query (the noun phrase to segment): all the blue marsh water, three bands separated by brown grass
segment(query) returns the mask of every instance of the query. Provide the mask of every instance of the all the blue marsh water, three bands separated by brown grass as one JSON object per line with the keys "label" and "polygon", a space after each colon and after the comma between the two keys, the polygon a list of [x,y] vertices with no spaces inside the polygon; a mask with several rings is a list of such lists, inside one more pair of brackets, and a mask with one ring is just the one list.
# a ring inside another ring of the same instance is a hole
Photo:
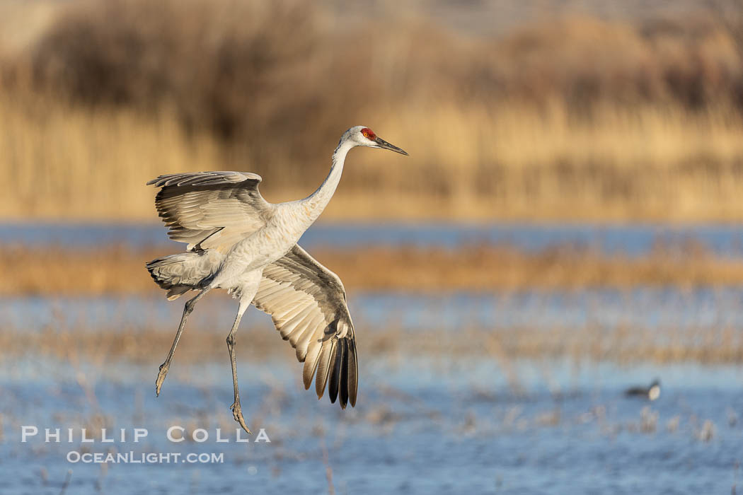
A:
{"label": "all the blue marsh water, three bands separated by brown grass", "polygon": [[[733,226],[319,225],[303,242],[496,242],[535,250],[572,243],[639,255],[658,242],[690,239],[720,255],[743,255],[743,228]],[[72,246],[168,242],[160,226],[0,226],[0,240]],[[702,336],[724,328],[737,335],[743,333],[742,303],[743,287],[737,286],[349,294],[359,335],[392,328],[413,335],[406,340],[413,342],[417,335],[457,335],[463,328],[484,330],[481,335],[520,327],[621,327],[630,335],[701,329],[692,335]],[[5,298],[0,332],[154,325],[175,330],[181,309],[181,301],[149,297]],[[222,339],[234,311],[230,298],[210,295],[189,326],[212,328]],[[241,335],[275,332],[270,318],[253,310],[243,327]],[[623,366],[567,357],[510,358],[504,364],[489,355],[413,351],[363,355],[359,401],[345,411],[303,390],[291,353],[239,361],[246,419],[256,436],[262,428],[270,439],[255,442],[253,436],[240,443],[228,409],[233,397],[226,353],[213,363],[179,362],[156,398],[153,364],[111,361],[97,367],[86,358],[24,358],[0,350],[0,472],[7,474],[0,476],[0,494],[59,494],[68,470],[66,493],[84,495],[328,493],[329,476],[338,494],[708,494],[730,493],[741,483],[739,365]],[[663,385],[657,401],[624,396],[626,387],[655,377]],[[39,434],[20,442],[23,425],[39,427]],[[204,428],[210,437],[170,442],[166,431],[174,425],[186,433]],[[101,426],[109,436],[124,428],[127,441],[100,442]],[[45,427],[60,428],[62,442],[44,442]],[[81,442],[82,427],[98,441]],[[72,442],[66,441],[67,428],[74,429]],[[134,443],[134,428],[149,434]],[[216,428],[230,442],[216,442]],[[68,462],[71,451],[133,452],[139,459],[142,453],[223,457],[203,464],[94,464]]]}

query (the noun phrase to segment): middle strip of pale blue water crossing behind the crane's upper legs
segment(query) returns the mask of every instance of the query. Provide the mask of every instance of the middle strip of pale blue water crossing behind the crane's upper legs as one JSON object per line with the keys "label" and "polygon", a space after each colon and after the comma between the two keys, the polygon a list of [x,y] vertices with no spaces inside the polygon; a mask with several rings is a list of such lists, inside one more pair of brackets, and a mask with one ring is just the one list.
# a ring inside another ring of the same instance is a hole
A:
{"label": "middle strip of pale blue water crossing behind the crane's upper legs", "polygon": [[[0,326],[39,330],[45,327],[104,327],[111,330],[177,324],[184,301],[131,296],[126,298],[0,298]],[[631,327],[639,329],[727,327],[743,332],[743,286],[682,290],[675,287],[580,289],[570,292],[348,294],[359,329],[452,330],[478,328]],[[224,294],[211,294],[190,317],[190,324],[229,330],[237,306]],[[222,327],[214,323],[215,315]],[[250,308],[243,327],[271,327]]]}

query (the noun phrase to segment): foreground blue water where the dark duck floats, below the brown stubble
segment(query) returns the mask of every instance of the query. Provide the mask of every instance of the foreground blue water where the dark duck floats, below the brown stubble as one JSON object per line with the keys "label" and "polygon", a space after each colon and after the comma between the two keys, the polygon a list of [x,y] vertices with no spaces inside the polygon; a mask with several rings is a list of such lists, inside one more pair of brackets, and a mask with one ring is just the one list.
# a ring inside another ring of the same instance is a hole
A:
{"label": "foreground blue water where the dark duck floats, below the brown stubble", "polygon": [[[91,377],[94,402],[63,378],[71,375],[67,364],[2,367],[0,390],[9,400],[0,409],[0,459],[5,472],[16,473],[0,480],[2,493],[58,493],[68,469],[76,494],[244,493],[250,487],[325,493],[328,469],[340,493],[727,493],[743,457],[737,417],[743,373],[736,367],[519,361],[524,390],[517,394],[487,360],[422,358],[400,365],[379,359],[363,370],[357,407],[341,411],[301,390],[288,362],[247,364],[241,368],[244,411],[270,443],[236,442],[223,364],[173,373],[158,399],[153,370],[129,364],[78,370]],[[558,396],[548,391],[537,371],[545,367],[554,380],[571,383],[569,389]],[[664,381],[658,401],[623,396],[625,384],[658,373]],[[80,427],[96,410],[110,428],[126,428],[129,442],[82,444]],[[42,433],[21,443],[24,424]],[[166,431],[173,425],[204,428],[210,439],[170,442]],[[74,428],[74,441],[62,433],[59,444],[45,443],[43,427]],[[149,431],[142,442],[132,442],[134,427]],[[217,427],[230,442],[215,442]],[[209,464],[101,468],[68,462],[71,451],[224,456]]]}

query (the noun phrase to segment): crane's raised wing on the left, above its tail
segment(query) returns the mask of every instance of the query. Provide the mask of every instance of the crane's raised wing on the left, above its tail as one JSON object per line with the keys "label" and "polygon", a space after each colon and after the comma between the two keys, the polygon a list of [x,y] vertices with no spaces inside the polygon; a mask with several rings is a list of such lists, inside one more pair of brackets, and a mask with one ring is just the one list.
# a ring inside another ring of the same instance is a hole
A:
{"label": "crane's raised wing on the left, above its tail", "polygon": [[265,226],[273,214],[258,191],[261,176],[250,172],[198,172],[160,175],[155,197],[168,236],[192,249],[227,252]]}

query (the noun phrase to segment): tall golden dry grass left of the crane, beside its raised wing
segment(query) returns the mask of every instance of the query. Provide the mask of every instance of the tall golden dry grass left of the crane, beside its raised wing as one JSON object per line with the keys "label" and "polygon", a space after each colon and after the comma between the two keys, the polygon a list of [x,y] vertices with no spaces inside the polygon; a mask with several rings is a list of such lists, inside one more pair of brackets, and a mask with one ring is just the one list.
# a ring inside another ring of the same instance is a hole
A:
{"label": "tall golden dry grass left of the crane, beside its raised wing", "polygon": [[[153,217],[147,180],[221,163],[209,138],[186,139],[175,119],[85,111],[0,96],[0,169],[12,185],[0,217]],[[156,216],[156,215],[155,215]]]}

